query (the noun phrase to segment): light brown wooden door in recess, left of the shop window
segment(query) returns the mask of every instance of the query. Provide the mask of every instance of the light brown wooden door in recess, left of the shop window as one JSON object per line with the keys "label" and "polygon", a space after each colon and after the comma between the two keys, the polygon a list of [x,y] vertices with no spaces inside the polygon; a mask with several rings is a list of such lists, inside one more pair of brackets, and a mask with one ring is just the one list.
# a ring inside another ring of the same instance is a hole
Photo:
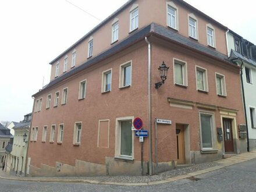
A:
{"label": "light brown wooden door in recess, left of the shop window", "polygon": [[185,163],[184,155],[184,127],[183,125],[176,125],[176,139],[177,139],[177,164]]}

